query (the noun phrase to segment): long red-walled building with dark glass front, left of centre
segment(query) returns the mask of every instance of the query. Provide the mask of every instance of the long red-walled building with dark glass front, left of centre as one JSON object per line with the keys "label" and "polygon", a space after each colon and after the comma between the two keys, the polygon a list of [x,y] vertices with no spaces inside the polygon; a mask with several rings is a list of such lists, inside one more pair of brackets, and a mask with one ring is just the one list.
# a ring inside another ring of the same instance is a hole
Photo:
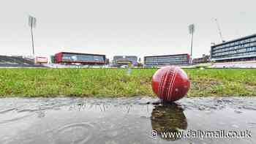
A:
{"label": "long red-walled building with dark glass front, left of centre", "polygon": [[86,65],[104,65],[106,56],[90,53],[69,53],[60,52],[54,56],[56,64],[86,64]]}

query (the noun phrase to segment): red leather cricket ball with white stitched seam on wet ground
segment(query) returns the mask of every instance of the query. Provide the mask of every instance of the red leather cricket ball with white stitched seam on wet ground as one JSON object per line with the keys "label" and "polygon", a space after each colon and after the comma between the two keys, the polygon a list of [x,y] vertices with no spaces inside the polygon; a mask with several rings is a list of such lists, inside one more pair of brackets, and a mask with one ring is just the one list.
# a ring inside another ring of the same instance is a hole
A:
{"label": "red leather cricket ball with white stitched seam on wet ground", "polygon": [[159,99],[167,102],[173,102],[184,97],[189,91],[189,87],[189,77],[179,67],[162,67],[152,77],[154,93]]}

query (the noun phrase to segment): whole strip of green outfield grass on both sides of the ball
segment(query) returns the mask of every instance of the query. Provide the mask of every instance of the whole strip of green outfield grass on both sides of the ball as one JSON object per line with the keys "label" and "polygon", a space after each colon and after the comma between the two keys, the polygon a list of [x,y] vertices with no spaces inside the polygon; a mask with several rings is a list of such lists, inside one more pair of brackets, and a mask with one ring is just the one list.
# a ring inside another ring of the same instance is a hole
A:
{"label": "whole strip of green outfield grass on both sides of the ball", "polygon": [[[155,96],[157,69],[0,69],[0,96]],[[256,96],[256,69],[184,69],[188,96]]]}

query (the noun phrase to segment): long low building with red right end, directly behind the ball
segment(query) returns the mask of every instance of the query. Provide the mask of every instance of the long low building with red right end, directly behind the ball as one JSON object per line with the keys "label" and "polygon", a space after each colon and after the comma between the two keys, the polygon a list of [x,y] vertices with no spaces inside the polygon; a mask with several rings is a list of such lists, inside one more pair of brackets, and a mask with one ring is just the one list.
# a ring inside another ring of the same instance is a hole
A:
{"label": "long low building with red right end, directly behind the ball", "polygon": [[187,53],[164,56],[145,56],[144,67],[161,67],[165,65],[188,65],[190,56]]}

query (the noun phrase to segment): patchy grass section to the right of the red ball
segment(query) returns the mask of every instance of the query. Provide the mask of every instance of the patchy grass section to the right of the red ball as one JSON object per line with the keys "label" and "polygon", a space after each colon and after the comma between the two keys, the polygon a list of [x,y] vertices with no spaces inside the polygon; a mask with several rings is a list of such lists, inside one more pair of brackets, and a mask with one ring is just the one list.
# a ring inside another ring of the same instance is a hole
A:
{"label": "patchy grass section to the right of the red ball", "polygon": [[256,96],[256,69],[185,69],[188,96]]}

